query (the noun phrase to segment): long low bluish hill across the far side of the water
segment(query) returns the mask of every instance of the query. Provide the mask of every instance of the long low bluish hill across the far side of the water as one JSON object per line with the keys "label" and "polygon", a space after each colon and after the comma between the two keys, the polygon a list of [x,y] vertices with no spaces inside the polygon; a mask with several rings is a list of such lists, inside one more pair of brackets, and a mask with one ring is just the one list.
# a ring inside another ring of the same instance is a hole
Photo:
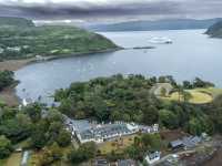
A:
{"label": "long low bluish hill across the far side of the water", "polygon": [[95,24],[87,29],[93,31],[153,31],[153,30],[185,30],[185,29],[208,29],[213,23],[222,19],[208,20],[158,20],[158,21],[130,21],[114,24]]}

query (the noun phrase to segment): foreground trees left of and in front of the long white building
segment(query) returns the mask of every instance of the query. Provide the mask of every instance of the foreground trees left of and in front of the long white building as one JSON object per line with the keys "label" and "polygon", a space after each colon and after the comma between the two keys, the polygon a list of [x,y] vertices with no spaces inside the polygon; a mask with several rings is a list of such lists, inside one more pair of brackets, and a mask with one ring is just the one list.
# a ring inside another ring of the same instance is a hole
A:
{"label": "foreground trees left of and in front of the long white building", "polygon": [[[39,103],[21,110],[0,105],[0,160],[9,157],[21,142],[26,142],[22,143],[23,149],[41,151],[38,166],[60,164],[61,160],[78,165],[100,155],[92,142],[81,144],[78,148],[71,146],[71,133],[65,129],[63,116],[56,108],[46,108]],[[148,151],[162,147],[159,134],[144,134],[137,136],[123,153],[111,152],[107,158],[111,162],[120,158],[142,160]],[[69,148],[65,155],[64,148]]]}

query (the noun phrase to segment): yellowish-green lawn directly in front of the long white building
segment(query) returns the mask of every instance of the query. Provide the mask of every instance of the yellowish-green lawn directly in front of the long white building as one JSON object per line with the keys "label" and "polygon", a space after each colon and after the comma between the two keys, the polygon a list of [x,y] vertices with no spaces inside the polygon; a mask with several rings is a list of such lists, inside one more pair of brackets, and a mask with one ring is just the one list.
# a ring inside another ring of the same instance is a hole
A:
{"label": "yellowish-green lawn directly in front of the long white building", "polygon": [[122,152],[125,147],[130,146],[134,142],[134,137],[137,135],[130,135],[130,136],[123,136],[122,141],[121,138],[115,138],[113,141],[104,142],[99,145],[99,149],[101,151],[102,155],[105,155],[108,153],[114,152]]}

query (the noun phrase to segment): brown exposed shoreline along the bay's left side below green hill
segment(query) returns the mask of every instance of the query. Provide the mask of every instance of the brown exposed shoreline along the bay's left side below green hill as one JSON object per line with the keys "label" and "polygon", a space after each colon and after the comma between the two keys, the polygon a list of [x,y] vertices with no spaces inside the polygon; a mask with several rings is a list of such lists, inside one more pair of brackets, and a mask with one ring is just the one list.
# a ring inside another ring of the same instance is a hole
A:
{"label": "brown exposed shoreline along the bay's left side below green hill", "polygon": [[[115,52],[119,50],[123,50],[123,48],[113,48],[113,49],[105,49],[101,51],[92,51],[92,52],[83,52],[83,53],[72,53],[72,54],[64,54],[64,55],[49,55],[43,56],[44,60],[39,61],[36,58],[30,59],[23,59],[23,60],[8,60],[0,62],[0,71],[9,70],[9,71],[18,71],[26,65],[32,64],[32,63],[41,63],[46,61],[52,61],[58,59],[65,59],[65,58],[72,58],[72,56],[80,56],[80,55],[87,55],[87,54],[94,54],[94,53],[105,53],[105,52]],[[2,101],[9,106],[17,106],[20,103],[20,98],[16,94],[16,86],[11,85],[9,87],[6,87],[0,92],[0,102]]]}

